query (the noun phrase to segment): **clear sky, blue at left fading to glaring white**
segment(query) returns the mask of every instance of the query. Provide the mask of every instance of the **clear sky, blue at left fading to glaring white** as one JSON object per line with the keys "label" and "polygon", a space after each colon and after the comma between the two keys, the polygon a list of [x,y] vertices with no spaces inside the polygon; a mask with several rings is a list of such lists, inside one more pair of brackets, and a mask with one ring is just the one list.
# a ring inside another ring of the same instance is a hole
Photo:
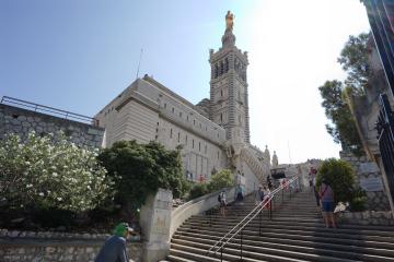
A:
{"label": "clear sky, blue at left fading to glaring white", "polygon": [[279,163],[338,157],[318,86],[344,80],[349,35],[369,32],[359,0],[1,0],[0,96],[94,116],[138,76],[193,104],[209,97],[209,49],[234,13],[248,52],[251,142]]}

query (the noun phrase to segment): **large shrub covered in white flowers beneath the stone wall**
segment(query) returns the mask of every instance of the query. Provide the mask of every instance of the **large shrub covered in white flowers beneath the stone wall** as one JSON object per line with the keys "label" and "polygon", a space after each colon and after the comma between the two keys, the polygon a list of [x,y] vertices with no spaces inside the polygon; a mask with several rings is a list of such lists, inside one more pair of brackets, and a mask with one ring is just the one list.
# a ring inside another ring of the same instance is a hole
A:
{"label": "large shrub covered in white flowers beneath the stone wall", "polygon": [[0,140],[0,196],[12,209],[35,206],[81,212],[111,196],[112,180],[96,162],[99,150],[86,150],[65,135],[22,142],[15,135]]}

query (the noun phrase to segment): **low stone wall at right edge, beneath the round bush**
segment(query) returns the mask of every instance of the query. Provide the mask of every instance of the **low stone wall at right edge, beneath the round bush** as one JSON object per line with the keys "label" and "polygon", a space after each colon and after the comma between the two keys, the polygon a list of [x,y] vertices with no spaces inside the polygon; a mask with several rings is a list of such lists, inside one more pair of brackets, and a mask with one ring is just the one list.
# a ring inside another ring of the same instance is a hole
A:
{"label": "low stone wall at right edge, beneath the round bush", "polygon": [[380,225],[394,226],[394,216],[391,212],[338,212],[336,216],[339,223],[355,224],[355,225]]}

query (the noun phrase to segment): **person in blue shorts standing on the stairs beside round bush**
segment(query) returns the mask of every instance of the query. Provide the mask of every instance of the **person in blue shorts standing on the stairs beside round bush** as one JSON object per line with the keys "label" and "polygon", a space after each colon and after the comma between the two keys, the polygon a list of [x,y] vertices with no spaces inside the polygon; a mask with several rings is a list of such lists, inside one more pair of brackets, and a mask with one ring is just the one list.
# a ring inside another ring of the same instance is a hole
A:
{"label": "person in blue shorts standing on the stairs beside round bush", "polygon": [[327,180],[323,179],[322,187],[318,190],[318,196],[321,199],[322,215],[326,227],[329,227],[329,222],[333,228],[336,228],[334,219],[334,191]]}

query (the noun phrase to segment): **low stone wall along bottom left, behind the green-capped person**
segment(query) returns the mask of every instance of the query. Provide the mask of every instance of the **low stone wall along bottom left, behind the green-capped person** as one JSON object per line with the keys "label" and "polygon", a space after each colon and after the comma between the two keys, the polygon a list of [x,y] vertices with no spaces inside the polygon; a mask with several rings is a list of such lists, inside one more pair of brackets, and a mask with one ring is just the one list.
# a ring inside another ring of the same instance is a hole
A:
{"label": "low stone wall along bottom left, behind the green-capped person", "polygon": [[[0,262],[93,262],[106,234],[34,233],[0,229]],[[128,241],[129,259],[142,261],[142,243]]]}

